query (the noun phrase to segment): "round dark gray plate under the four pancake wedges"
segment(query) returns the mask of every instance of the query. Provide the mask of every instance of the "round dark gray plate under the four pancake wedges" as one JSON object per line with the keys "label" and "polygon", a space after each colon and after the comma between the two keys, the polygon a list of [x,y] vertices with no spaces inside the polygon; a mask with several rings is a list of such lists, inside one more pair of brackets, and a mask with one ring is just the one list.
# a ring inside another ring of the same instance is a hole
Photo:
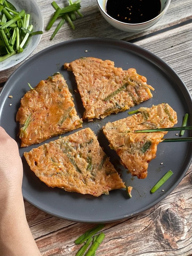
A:
{"label": "round dark gray plate under the four pancake wedges", "polygon": [[[88,50],[85,53],[85,50]],[[23,63],[6,82],[0,94],[0,125],[20,145],[17,137],[18,123],[15,116],[20,106],[20,99],[31,86],[37,85],[41,79],[60,71],[67,80],[73,94],[75,107],[80,117],[83,106],[78,93],[75,78],[72,72],[63,69],[64,62],[70,62],[80,57],[96,57],[103,60],[110,59],[116,67],[128,69],[134,67],[137,72],[147,77],[148,84],[155,88],[153,98],[143,102],[139,107],[150,107],[162,102],[167,102],[178,116],[178,126],[181,126],[185,113],[190,114],[188,125],[191,123],[192,102],[190,94],[178,75],[161,59],[154,54],[131,43],[103,38],[83,38],[51,46],[35,54]],[[13,98],[8,98],[13,95]],[[12,103],[12,106],[9,104]],[[131,108],[137,109],[138,106]],[[148,176],[144,180],[131,177],[119,164],[119,157],[114,150],[109,148],[109,142],[102,133],[101,127],[107,122],[112,122],[127,117],[127,111],[111,114],[105,119],[96,119],[94,122],[84,122],[83,128],[90,127],[98,136],[100,145],[104,148],[115,168],[121,173],[126,185],[133,186],[132,198],[128,199],[125,189],[113,190],[109,196],[102,195],[98,198],[91,195],[68,193],[58,188],[49,188],[30,171],[24,151],[30,151],[39,145],[20,148],[23,161],[23,197],[39,209],[52,215],[74,222],[112,222],[129,218],[152,207],[165,198],[184,177],[191,162],[192,143],[171,142],[158,145],[157,157],[151,161]],[[73,133],[73,132],[72,132]],[[172,138],[176,132],[169,132],[165,137]],[[69,135],[67,133],[65,135]],[[63,135],[63,136],[65,136]],[[190,131],[185,131],[185,137],[191,136]],[[57,139],[54,137],[46,142]],[[41,145],[41,144],[40,144]],[[163,165],[160,163],[163,162]],[[154,194],[150,189],[168,171],[174,175]],[[165,191],[162,192],[162,189]]]}

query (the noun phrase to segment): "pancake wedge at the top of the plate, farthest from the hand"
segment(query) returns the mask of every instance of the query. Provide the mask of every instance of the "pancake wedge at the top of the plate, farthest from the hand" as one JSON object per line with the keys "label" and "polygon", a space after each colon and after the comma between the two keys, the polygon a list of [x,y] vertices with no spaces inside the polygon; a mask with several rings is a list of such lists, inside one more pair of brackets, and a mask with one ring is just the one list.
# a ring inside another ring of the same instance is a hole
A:
{"label": "pancake wedge at the top of the plate, farthest from the hand", "polygon": [[122,70],[114,67],[113,61],[93,57],[76,59],[64,66],[75,75],[85,107],[83,118],[104,118],[152,97],[153,87],[133,68]]}

